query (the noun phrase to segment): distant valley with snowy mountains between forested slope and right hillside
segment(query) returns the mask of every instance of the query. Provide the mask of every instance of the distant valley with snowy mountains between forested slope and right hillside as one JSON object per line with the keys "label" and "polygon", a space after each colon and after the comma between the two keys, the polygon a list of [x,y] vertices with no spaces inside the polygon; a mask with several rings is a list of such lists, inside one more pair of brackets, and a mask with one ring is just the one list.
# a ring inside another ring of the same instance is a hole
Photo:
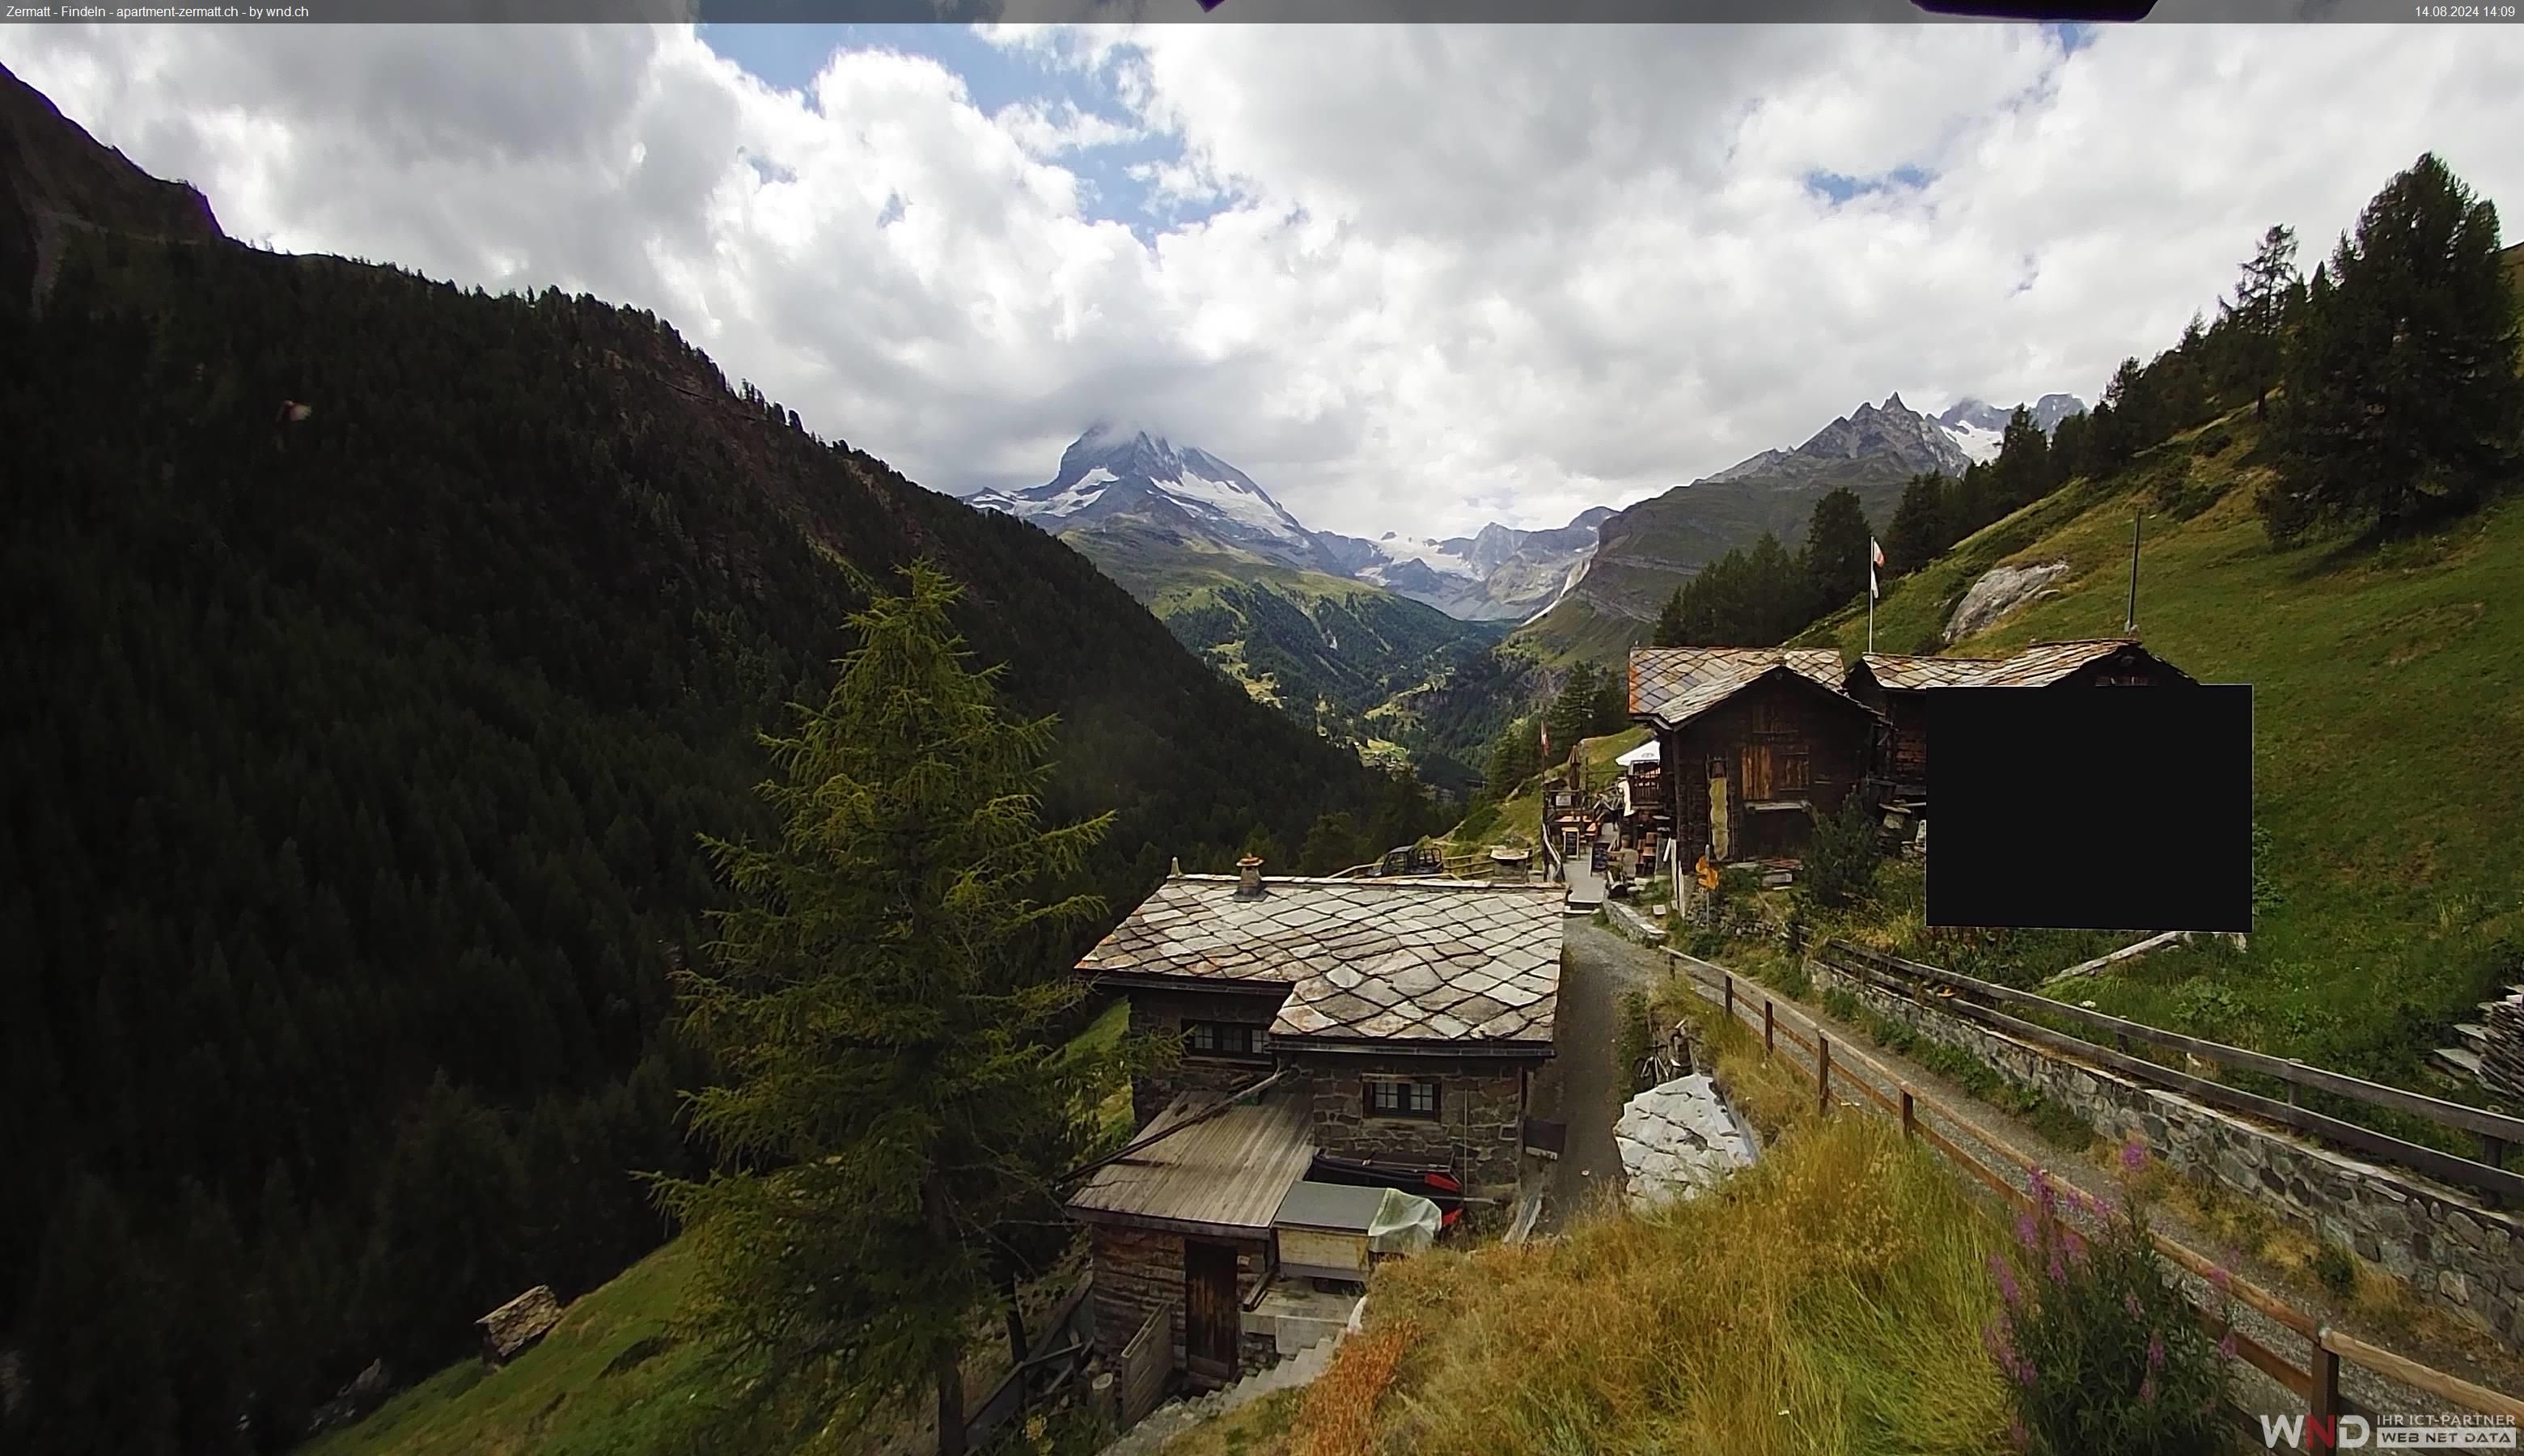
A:
{"label": "distant valley with snowy mountains between forested slope and right hillside", "polygon": [[[2052,432],[2085,404],[2024,409]],[[1843,487],[1880,530],[1911,477],[1994,459],[2009,419],[1979,399],[1928,416],[1893,394],[1628,510],[1446,540],[1312,530],[1217,454],[1116,421],[1080,434],[1053,479],[964,500],[1078,548],[1252,696],[1464,787],[1489,734],[1557,691],[1570,661],[1648,641],[1704,565],[1764,532],[1792,540]]]}

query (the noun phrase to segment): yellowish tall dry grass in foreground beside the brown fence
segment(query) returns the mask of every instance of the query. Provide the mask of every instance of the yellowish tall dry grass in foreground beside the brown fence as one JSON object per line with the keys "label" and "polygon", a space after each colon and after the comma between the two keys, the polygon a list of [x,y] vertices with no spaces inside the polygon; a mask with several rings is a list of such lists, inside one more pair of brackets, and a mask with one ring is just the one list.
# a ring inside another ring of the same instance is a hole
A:
{"label": "yellowish tall dry grass in foreground beside the brown fence", "polygon": [[1376,1451],[1489,1456],[1981,1453],[2009,1403],[1981,1327],[2007,1234],[1880,1120],[1810,1085],[1676,987],[1716,1077],[1769,1138],[1719,1194],[1593,1219],[1557,1244],[1378,1272],[1371,1330],[1416,1340]]}

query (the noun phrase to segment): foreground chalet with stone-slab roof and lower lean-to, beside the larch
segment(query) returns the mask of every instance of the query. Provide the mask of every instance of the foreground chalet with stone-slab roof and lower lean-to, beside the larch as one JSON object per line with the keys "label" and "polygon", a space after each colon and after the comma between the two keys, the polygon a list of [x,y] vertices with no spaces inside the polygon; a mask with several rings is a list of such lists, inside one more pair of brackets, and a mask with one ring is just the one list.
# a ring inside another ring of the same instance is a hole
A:
{"label": "foreground chalet with stone-slab roof and lower lean-to, beside the larch", "polygon": [[1560,997],[1560,886],[1242,868],[1169,876],[1078,964],[1131,999],[1131,1032],[1184,1045],[1133,1085],[1143,1148],[1070,1196],[1093,1229],[1095,1340],[1118,1353],[1174,1307],[1201,1380],[1270,1360],[1242,1312],[1310,1171],[1514,1191]]}

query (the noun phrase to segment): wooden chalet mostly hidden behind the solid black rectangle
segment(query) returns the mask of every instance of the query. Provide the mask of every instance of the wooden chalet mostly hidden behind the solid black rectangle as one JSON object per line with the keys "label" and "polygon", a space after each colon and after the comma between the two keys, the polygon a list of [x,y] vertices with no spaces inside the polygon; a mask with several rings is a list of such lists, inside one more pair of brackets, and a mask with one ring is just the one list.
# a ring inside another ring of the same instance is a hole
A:
{"label": "wooden chalet mostly hidden behind the solid black rectangle", "polygon": [[2012,656],[1865,654],[1843,691],[1883,714],[1868,785],[1878,802],[1928,800],[1928,696],[1941,686],[2171,686],[2191,674],[2138,638],[2037,641]]}

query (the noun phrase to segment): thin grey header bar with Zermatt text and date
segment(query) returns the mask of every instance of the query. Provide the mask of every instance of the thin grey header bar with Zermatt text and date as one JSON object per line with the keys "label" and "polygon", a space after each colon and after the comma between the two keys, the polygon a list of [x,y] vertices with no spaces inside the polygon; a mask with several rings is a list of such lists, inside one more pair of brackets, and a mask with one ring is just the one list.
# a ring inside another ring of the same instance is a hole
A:
{"label": "thin grey header bar with Zermatt text and date", "polygon": [[2516,0],[38,0],[15,23],[2400,23],[2514,25]]}

